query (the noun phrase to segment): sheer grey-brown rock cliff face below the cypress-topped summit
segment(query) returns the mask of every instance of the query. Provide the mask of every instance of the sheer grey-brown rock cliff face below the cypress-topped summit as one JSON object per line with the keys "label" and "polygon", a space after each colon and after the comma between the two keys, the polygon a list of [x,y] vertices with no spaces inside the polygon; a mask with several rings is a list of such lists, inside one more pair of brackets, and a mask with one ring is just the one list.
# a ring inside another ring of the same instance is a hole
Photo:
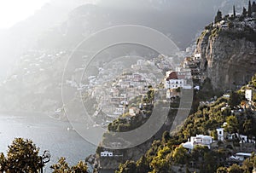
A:
{"label": "sheer grey-brown rock cliff face below the cypress-topped summit", "polygon": [[205,30],[195,53],[201,54],[201,72],[211,79],[213,89],[236,89],[256,72],[255,47],[253,21],[248,26],[219,25]]}

